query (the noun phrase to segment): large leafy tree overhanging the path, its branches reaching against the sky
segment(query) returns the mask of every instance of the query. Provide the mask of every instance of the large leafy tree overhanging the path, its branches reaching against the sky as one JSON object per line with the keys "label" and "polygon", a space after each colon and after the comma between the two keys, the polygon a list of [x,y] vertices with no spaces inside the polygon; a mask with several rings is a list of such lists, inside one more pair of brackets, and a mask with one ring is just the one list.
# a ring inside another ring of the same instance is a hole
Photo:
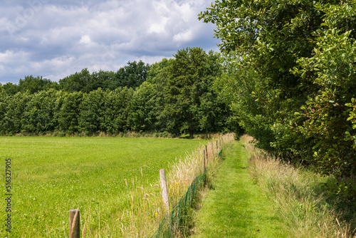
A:
{"label": "large leafy tree overhanging the path, its branches reaching against the sky", "polygon": [[289,69],[298,57],[310,56],[309,37],[321,22],[318,11],[310,1],[216,1],[199,17],[216,24],[227,53],[228,81],[237,82],[224,87],[242,87],[229,94],[235,95],[241,125],[266,150],[290,151],[293,139],[283,132],[306,98]]}

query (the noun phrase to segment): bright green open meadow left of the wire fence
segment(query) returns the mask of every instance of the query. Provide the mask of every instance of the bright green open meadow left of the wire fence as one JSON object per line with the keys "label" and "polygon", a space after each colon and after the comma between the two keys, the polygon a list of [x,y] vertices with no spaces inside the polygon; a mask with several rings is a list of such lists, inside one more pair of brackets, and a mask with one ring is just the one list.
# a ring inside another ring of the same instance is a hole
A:
{"label": "bright green open meadow left of the wire fence", "polygon": [[[82,221],[90,219],[87,230],[112,229],[127,208],[126,182],[130,187],[132,178],[138,177],[154,185],[160,168],[167,169],[175,158],[185,157],[202,143],[158,138],[0,137],[2,181],[5,160],[11,158],[13,227],[8,233],[1,225],[0,237],[68,237],[68,211],[77,207]],[[1,197],[4,189],[3,183]],[[0,210],[5,206],[1,202]],[[1,221],[5,218],[0,212]]]}

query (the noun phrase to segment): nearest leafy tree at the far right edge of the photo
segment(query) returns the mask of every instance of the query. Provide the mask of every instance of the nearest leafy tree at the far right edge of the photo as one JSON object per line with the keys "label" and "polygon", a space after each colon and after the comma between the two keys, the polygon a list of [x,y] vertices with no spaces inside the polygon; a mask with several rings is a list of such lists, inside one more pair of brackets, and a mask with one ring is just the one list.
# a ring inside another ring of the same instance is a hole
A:
{"label": "nearest leafy tree at the far right edge of the photo", "polygon": [[317,47],[313,56],[298,60],[293,73],[308,78],[318,91],[296,113],[294,130],[306,148],[300,152],[303,157],[317,161],[323,172],[352,175],[356,173],[356,150],[351,135],[356,130],[350,102],[356,88],[356,45],[352,31],[343,27],[345,19],[355,19],[356,7],[318,4],[315,8],[325,12],[323,24],[315,31]]}

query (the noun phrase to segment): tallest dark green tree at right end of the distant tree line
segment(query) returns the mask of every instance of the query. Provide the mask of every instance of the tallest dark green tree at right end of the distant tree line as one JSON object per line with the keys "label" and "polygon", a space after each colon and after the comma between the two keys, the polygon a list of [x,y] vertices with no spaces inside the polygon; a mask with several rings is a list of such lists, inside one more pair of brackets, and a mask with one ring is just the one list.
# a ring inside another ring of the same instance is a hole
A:
{"label": "tallest dark green tree at right end of the distant tree line", "polygon": [[[186,48],[178,51],[173,60],[164,61],[161,69],[154,68],[157,73],[152,81],[161,90],[159,120],[170,133],[187,131],[192,138],[194,131],[224,130],[225,124],[221,126],[218,120],[223,123],[219,113],[226,110],[226,105],[216,99],[212,90],[214,79],[221,73],[219,57],[212,51]],[[226,113],[223,116],[226,118]]]}

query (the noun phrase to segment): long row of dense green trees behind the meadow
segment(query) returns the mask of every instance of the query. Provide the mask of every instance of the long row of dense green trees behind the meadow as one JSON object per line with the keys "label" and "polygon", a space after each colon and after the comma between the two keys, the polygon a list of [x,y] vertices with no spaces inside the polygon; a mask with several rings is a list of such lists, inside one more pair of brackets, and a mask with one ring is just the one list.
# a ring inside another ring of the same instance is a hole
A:
{"label": "long row of dense green trees behind the meadow", "polygon": [[172,59],[127,63],[116,73],[83,69],[58,83],[26,76],[0,87],[0,133],[220,133],[239,128],[214,90],[221,56],[184,48]]}

